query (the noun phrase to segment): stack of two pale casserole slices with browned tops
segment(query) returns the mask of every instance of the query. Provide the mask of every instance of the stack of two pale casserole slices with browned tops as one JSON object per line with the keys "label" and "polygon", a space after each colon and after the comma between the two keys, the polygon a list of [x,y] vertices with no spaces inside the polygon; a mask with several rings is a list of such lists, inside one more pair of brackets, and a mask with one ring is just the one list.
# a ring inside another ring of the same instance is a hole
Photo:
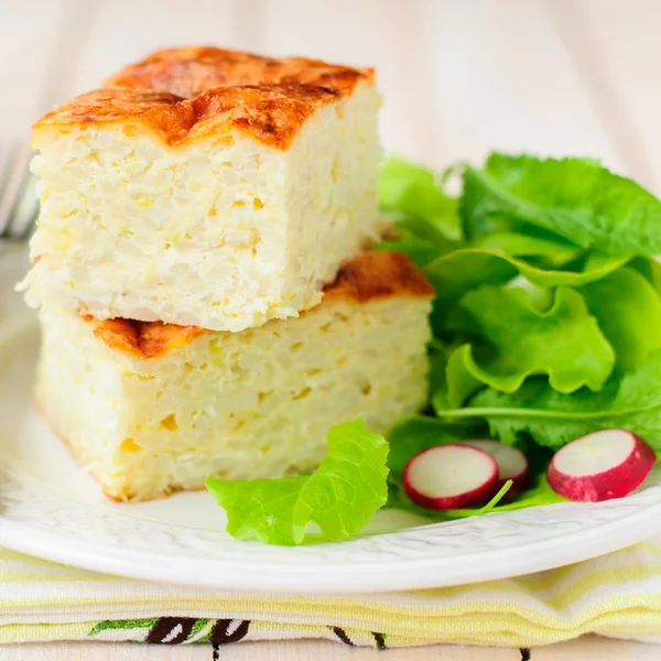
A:
{"label": "stack of two pale casserole slices with browned tops", "polygon": [[37,402],[111,498],[314,468],[426,397],[432,289],[369,251],[370,69],[158,52],[34,127]]}

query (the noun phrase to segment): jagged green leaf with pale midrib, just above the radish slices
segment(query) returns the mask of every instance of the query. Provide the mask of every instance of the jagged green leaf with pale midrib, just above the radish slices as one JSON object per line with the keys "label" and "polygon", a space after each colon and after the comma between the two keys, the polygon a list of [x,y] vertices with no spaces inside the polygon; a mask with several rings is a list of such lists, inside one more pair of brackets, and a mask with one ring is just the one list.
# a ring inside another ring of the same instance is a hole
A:
{"label": "jagged green leaf with pale midrib, just above the radish slices", "polygon": [[614,375],[594,393],[553,390],[542,378],[530,379],[513,393],[484,390],[465,409],[437,410],[442,418],[486,419],[491,433],[513,444],[529,434],[540,445],[561,447],[590,432],[625,429],[661,451],[661,350],[651,353],[636,370]]}

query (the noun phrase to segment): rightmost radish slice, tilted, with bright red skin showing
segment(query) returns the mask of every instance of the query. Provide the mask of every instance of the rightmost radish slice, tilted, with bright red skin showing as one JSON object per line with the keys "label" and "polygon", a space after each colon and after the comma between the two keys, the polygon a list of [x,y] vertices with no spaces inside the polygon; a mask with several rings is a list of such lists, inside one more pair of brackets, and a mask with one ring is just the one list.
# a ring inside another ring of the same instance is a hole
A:
{"label": "rightmost radish slice, tilted, with bright red skin showing", "polygon": [[598,502],[633,491],[655,460],[654,451],[640,436],[626,430],[604,430],[559,449],[546,479],[560,496]]}

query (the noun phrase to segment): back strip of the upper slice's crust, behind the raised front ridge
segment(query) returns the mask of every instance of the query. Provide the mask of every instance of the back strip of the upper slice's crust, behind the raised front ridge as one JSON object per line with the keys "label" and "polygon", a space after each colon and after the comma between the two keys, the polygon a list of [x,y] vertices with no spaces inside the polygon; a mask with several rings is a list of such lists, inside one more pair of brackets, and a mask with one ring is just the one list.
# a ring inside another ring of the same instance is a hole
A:
{"label": "back strip of the upper slice's crust, behind the raised front ridge", "polygon": [[214,46],[156,51],[110,76],[105,87],[132,87],[196,97],[213,87],[235,85],[312,85],[350,94],[371,68],[353,68],[305,57],[262,57]]}

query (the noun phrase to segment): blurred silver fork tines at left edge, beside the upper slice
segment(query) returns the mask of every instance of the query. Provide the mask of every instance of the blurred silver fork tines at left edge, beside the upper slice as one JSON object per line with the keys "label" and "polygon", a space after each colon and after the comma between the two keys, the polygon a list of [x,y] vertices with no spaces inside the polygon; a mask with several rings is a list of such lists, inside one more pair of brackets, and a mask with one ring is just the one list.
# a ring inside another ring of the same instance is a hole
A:
{"label": "blurred silver fork tines at left edge, beside the upper slice", "polygon": [[29,170],[31,158],[26,148],[0,143],[0,253],[24,248],[36,223],[39,202]]}

